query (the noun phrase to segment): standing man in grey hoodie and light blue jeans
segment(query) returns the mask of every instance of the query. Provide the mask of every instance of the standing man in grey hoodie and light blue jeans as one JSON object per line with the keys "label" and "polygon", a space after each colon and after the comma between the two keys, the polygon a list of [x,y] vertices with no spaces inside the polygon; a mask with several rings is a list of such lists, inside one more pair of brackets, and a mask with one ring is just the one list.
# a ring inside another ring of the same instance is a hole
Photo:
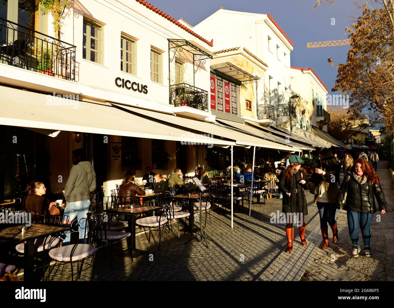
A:
{"label": "standing man in grey hoodie and light blue jeans", "polygon": [[[69,179],[66,183],[64,197],[67,201],[67,207],[64,215],[68,219],[63,221],[70,224],[75,218],[87,218],[87,211],[90,205],[90,193],[96,189],[96,173],[90,162],[85,160],[85,150],[75,149],[72,151],[72,166]],[[85,224],[81,225],[79,238],[85,237]],[[70,232],[64,235],[63,245],[70,244]]]}

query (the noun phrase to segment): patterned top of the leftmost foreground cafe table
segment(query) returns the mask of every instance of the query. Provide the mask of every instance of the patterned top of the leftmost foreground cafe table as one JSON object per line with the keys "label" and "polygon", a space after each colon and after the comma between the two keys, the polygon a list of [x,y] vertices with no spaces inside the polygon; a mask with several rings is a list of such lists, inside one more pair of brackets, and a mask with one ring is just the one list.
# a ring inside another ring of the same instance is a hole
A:
{"label": "patterned top of the leftmost foreground cafe table", "polygon": [[13,240],[17,242],[24,242],[28,239],[41,238],[56,232],[61,232],[70,229],[70,227],[32,223],[31,227],[28,228],[27,231],[24,231],[22,233],[20,227],[24,227],[24,226],[26,225],[17,225],[17,226],[1,229],[0,238],[4,238],[6,240]]}

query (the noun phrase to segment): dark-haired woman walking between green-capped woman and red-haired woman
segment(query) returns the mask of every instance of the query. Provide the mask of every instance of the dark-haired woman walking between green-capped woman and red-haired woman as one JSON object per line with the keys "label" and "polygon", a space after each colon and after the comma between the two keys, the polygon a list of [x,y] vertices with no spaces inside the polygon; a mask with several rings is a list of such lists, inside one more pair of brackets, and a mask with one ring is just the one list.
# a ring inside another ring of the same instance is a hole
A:
{"label": "dark-haired woman walking between green-capped woman and red-haired woman", "polygon": [[329,246],[328,225],[333,231],[333,243],[338,242],[338,228],[335,220],[336,198],[339,186],[334,179],[336,177],[337,162],[329,149],[323,149],[319,153],[318,168],[310,179],[309,191],[315,195],[314,203],[319,210],[320,230],[322,231],[322,249]]}

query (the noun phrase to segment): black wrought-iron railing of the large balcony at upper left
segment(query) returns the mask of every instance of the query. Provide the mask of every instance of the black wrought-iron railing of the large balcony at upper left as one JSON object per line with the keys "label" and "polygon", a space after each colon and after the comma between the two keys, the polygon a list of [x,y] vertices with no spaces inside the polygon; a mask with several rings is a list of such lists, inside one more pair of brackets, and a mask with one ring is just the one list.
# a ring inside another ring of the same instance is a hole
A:
{"label": "black wrought-iron railing of the large balcony at upper left", "polygon": [[75,80],[75,46],[0,18],[0,63]]}

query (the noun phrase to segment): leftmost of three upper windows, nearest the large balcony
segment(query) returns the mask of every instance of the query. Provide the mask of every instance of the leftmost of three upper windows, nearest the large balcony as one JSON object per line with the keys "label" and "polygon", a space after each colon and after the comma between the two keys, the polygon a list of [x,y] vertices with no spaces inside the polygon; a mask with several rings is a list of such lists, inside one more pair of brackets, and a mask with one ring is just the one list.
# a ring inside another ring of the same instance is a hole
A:
{"label": "leftmost of three upper windows, nearest the large balcony", "polygon": [[86,60],[102,64],[102,29],[103,26],[84,18],[84,38],[82,57]]}

